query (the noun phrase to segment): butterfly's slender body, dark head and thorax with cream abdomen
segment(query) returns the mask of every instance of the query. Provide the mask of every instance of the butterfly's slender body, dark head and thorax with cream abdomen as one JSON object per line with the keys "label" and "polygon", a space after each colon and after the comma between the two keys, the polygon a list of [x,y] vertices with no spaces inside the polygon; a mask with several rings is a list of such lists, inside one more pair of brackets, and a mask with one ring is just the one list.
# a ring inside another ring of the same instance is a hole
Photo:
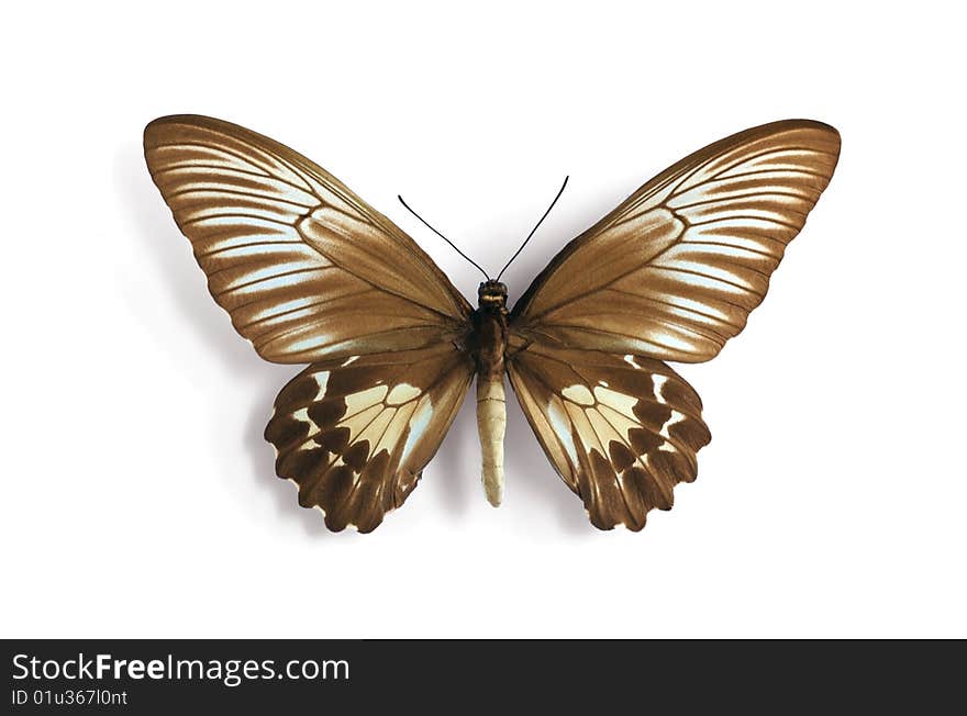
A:
{"label": "butterfly's slender body, dark head and thorax with cream abdomen", "polygon": [[[492,284],[492,286],[491,286]],[[480,286],[480,307],[474,313],[477,355],[477,432],[482,457],[481,479],[494,507],[503,496],[503,436],[507,430],[507,393],[503,354],[507,349],[507,288]]]}

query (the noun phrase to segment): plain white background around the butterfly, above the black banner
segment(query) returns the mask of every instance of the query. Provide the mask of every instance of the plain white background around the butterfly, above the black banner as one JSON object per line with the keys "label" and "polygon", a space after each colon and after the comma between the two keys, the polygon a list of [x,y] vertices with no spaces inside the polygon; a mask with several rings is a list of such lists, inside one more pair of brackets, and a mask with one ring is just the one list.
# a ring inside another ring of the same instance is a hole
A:
{"label": "plain white background around the butterfly, above the black banner", "polygon": [[[2,636],[967,636],[963,19],[955,3],[18,3],[4,11]],[[833,181],[748,328],[681,367],[713,434],[601,533],[510,406],[405,506],[329,534],[262,432],[297,367],[209,297],[141,132],[211,114],[315,159],[474,297],[685,154],[835,125]]]}

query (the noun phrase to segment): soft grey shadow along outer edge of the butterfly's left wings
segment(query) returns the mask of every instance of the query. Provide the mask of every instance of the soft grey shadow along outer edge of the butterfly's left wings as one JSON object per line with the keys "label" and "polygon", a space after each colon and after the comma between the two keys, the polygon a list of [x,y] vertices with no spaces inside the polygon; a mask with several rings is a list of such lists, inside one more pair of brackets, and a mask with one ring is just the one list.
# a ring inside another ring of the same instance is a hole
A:
{"label": "soft grey shadow along outer edge of the butterfly's left wings", "polygon": [[[222,368],[234,382],[249,389],[257,387],[248,390],[253,394],[248,412],[251,417],[245,424],[242,440],[252,466],[252,477],[273,495],[276,517],[290,521],[296,515],[308,535],[333,536],[334,533],[325,528],[322,515],[315,510],[300,510],[291,484],[275,477],[273,450],[263,437],[276,394],[296,376],[299,367],[274,366],[263,361],[232,331],[224,311],[213,301],[205,301],[200,295],[204,286],[201,272],[191,258],[188,242],[184,238],[178,240],[178,232],[170,213],[164,208],[148,178],[141,146],[134,142],[125,143],[114,157],[113,169],[121,205],[133,226],[131,238],[140,242],[153,270],[163,275],[162,284],[180,324],[197,334],[199,345],[204,346],[221,361]],[[129,303],[132,311],[142,316],[143,325],[151,328],[152,316],[156,315],[157,307],[138,303],[136,298],[132,298]],[[167,336],[159,336],[162,343],[167,343],[166,338]],[[231,424],[232,429],[237,426],[233,421],[226,421],[226,424]],[[234,479],[234,476],[231,477]]]}

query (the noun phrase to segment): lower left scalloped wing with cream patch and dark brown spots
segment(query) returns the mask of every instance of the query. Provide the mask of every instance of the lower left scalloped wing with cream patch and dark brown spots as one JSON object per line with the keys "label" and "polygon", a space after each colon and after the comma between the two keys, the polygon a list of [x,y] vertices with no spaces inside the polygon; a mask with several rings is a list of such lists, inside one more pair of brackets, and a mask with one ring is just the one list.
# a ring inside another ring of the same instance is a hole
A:
{"label": "lower left scalloped wing with cream patch and dark brown spots", "polygon": [[326,526],[371,532],[416,486],[474,372],[452,345],[313,363],[276,399],[276,472]]}

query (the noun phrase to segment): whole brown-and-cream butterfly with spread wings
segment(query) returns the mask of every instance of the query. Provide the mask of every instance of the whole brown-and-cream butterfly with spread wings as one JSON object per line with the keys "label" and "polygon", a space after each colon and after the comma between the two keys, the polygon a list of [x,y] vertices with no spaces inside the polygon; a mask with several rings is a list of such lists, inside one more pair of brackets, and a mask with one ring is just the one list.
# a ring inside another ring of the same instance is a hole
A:
{"label": "whole brown-and-cream butterfly with spread wings", "polygon": [[512,310],[500,275],[485,271],[474,309],[396,224],[268,137],[165,116],[144,152],[235,329],[266,360],[308,365],[265,437],[330,529],[371,532],[403,504],[475,376],[481,477],[500,504],[507,373],[591,524],[640,530],[711,439],[665,361],[714,358],[745,327],[840,135],[787,120],[689,155],[567,244]]}

